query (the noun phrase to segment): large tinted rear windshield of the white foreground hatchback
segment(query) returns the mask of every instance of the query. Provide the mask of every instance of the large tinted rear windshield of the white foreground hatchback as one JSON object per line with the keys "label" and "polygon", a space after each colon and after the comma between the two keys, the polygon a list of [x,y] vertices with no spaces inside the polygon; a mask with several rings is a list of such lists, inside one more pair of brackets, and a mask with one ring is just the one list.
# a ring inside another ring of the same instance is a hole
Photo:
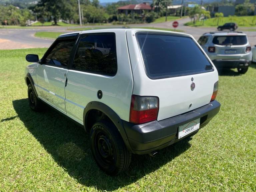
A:
{"label": "large tinted rear windshield of the white foreground hatchback", "polygon": [[213,67],[190,37],[137,33],[146,73],[151,79],[212,71]]}

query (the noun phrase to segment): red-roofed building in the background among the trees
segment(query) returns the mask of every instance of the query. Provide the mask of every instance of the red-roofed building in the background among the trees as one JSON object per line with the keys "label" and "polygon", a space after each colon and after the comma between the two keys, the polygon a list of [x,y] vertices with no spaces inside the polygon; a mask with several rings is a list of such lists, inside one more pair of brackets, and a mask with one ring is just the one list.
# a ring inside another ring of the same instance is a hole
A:
{"label": "red-roofed building in the background among the trees", "polygon": [[152,11],[154,7],[151,7],[149,3],[130,4],[122,7],[118,7],[118,14],[124,13],[125,15],[137,13],[141,15],[143,10]]}

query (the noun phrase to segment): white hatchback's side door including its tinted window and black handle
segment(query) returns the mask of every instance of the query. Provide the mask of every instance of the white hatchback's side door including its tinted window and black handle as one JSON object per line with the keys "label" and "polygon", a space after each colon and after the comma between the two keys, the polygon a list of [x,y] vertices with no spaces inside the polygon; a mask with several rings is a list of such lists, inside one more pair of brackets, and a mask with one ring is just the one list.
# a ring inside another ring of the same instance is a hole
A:
{"label": "white hatchback's side door including its tinted window and black handle", "polygon": [[77,36],[58,38],[42,58],[37,71],[39,97],[64,113],[68,65]]}

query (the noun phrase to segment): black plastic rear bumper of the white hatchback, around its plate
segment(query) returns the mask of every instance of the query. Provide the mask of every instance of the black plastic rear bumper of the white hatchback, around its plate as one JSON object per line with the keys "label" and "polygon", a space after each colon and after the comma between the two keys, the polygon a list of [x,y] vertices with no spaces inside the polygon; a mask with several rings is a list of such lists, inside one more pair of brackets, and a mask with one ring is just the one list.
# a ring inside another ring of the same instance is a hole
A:
{"label": "black plastic rear bumper of the white hatchback, around its plate", "polygon": [[198,130],[178,139],[178,127],[200,118],[200,128],[202,128],[209,123],[219,110],[220,103],[218,101],[212,101],[193,111],[161,121],[152,121],[140,125],[123,121],[123,125],[132,152],[136,154],[147,154],[195,134]]}

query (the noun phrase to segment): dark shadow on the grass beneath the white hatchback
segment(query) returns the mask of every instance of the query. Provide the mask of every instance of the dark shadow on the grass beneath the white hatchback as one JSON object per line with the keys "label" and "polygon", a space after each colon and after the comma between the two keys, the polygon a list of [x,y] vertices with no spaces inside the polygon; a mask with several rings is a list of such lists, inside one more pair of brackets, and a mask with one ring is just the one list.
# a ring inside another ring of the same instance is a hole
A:
{"label": "dark shadow on the grass beneath the white hatchback", "polygon": [[190,139],[185,138],[160,150],[154,158],[134,155],[127,172],[111,177],[96,165],[88,134],[82,127],[48,107],[40,113],[33,112],[28,106],[28,99],[13,101],[13,107],[26,128],[59,166],[79,183],[101,190],[111,191],[129,185],[172,161],[190,147]]}

